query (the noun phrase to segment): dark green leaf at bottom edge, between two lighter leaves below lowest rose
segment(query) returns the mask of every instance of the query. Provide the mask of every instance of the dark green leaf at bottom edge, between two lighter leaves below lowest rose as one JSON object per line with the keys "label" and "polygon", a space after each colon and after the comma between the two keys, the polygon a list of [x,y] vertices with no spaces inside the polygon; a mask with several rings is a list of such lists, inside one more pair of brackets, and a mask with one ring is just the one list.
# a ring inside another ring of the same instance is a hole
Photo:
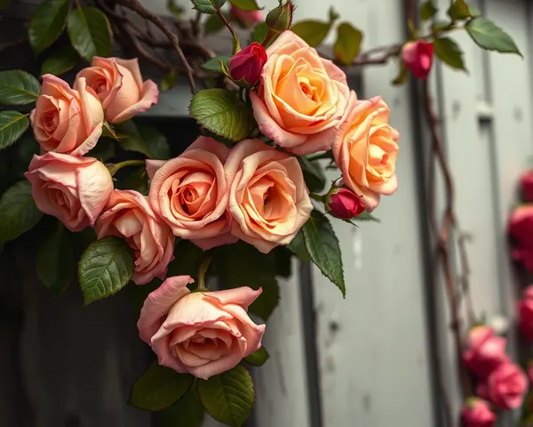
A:
{"label": "dark green leaf at bottom edge, between two lighter leaves below lowest rose", "polygon": [[160,427],[202,427],[204,414],[196,391],[191,387],[183,398],[161,412]]}

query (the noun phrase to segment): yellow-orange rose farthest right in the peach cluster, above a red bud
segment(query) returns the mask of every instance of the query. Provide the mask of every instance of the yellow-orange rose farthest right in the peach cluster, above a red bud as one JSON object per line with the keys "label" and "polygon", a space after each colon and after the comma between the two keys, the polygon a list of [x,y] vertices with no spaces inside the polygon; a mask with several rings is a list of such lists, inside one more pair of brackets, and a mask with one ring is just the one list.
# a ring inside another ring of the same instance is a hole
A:
{"label": "yellow-orange rose farthest right in the peach cluster, above a red bud", "polygon": [[393,194],[398,188],[398,132],[388,124],[389,113],[378,96],[357,101],[353,92],[332,146],[346,187],[362,197],[369,211],[381,194]]}

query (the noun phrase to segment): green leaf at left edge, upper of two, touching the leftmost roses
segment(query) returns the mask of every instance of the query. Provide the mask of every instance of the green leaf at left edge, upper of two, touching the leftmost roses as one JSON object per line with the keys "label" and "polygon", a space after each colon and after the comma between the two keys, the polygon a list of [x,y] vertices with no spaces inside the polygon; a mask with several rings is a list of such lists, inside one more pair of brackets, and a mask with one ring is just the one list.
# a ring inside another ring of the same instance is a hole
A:
{"label": "green leaf at left edge, upper of two, touching the leftmost roses", "polygon": [[41,92],[36,77],[20,69],[0,71],[0,105],[35,102]]}

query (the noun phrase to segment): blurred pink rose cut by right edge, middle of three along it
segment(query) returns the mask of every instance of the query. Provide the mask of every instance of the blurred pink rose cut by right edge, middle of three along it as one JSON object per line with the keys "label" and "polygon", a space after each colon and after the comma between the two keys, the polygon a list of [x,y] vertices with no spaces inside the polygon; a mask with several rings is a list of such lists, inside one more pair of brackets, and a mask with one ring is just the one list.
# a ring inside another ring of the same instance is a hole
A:
{"label": "blurred pink rose cut by right edge, middle of three along it", "polygon": [[521,205],[509,219],[509,234],[513,239],[513,259],[533,272],[533,205]]}

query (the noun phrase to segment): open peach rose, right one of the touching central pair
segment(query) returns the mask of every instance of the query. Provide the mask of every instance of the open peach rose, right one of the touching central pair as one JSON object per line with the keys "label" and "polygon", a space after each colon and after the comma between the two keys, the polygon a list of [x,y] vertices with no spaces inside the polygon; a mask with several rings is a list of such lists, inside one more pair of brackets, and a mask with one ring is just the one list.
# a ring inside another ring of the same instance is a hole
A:
{"label": "open peach rose, right one of the touching central pair", "polygon": [[244,140],[225,169],[232,234],[265,254],[290,243],[313,210],[298,160],[261,140]]}

